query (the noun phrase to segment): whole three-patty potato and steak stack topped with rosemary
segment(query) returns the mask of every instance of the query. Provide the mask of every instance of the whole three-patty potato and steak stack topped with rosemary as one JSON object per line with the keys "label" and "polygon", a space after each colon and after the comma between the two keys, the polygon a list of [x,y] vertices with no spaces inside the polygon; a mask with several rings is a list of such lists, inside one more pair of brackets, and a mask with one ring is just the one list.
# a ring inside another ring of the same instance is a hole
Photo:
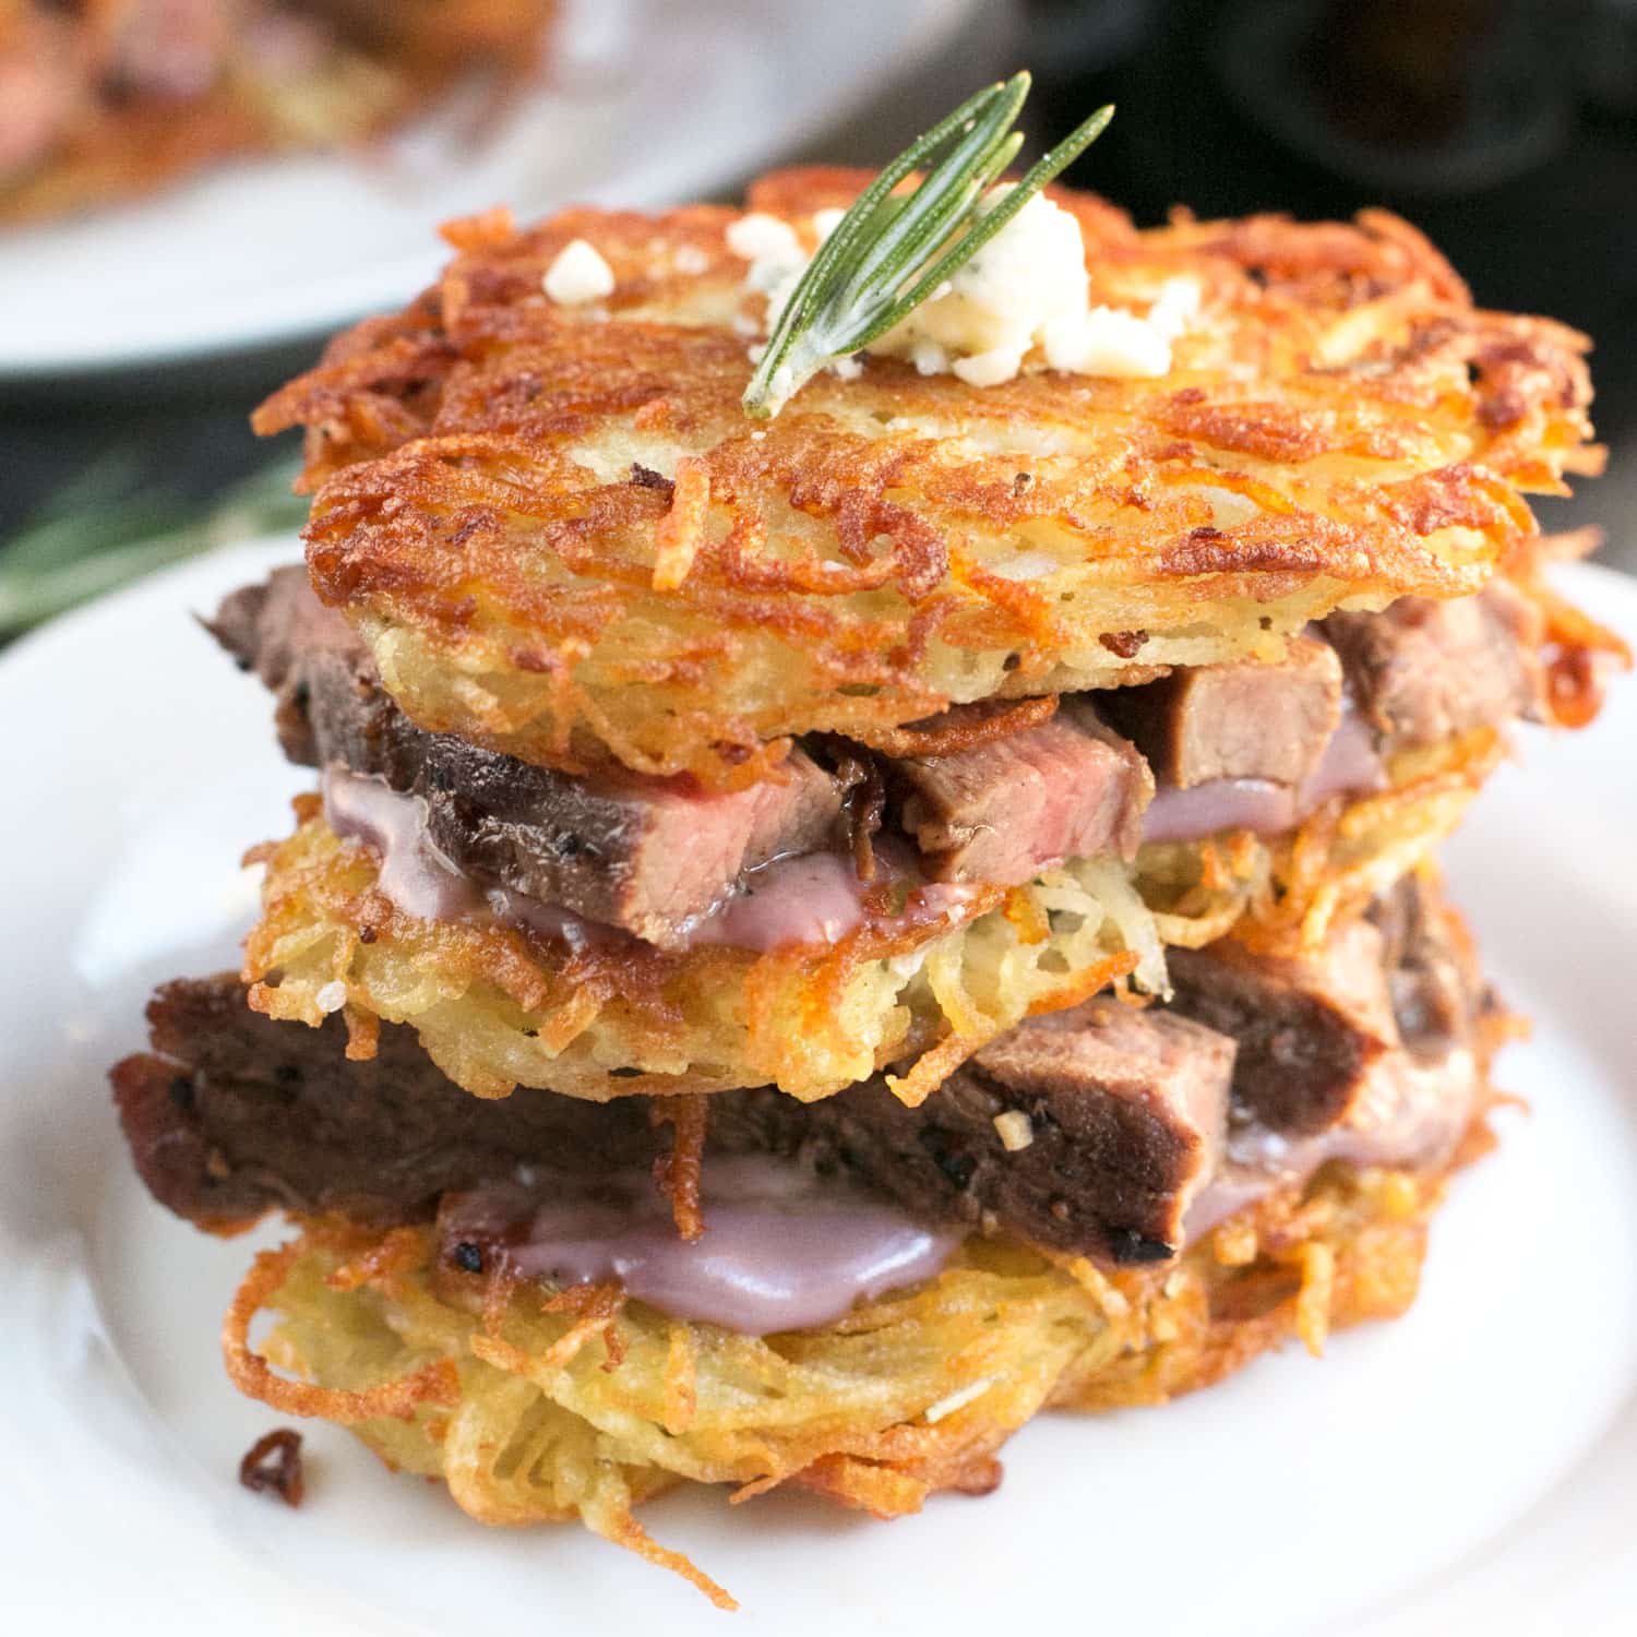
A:
{"label": "whole three-patty potato and steak stack topped with rosemary", "polygon": [[159,1202],[300,1229],[241,1388],[724,1604],[638,1501],[899,1516],[1409,1305],[1511,1028],[1432,853],[1621,652],[1524,499],[1581,337],[1043,193],[1097,121],[1000,183],[1021,95],[458,223],[264,406],[306,570],[208,624],[314,789],[113,1071]]}

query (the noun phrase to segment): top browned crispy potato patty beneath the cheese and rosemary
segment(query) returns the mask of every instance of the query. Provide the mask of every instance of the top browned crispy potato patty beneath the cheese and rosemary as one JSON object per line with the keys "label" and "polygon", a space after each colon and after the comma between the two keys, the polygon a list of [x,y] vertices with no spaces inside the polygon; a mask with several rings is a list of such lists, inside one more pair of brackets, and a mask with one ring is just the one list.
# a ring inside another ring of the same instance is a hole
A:
{"label": "top browned crispy potato patty beneath the cheese and rosemary", "polygon": [[[856,172],[751,206],[809,246]],[[1473,308],[1405,223],[1138,231],[1087,195],[1092,301],[1202,311],[1159,380],[974,388],[871,359],[740,409],[738,213],[457,223],[440,282],[262,406],[308,427],[308,561],[424,727],[722,786],[786,737],[1277,656],[1336,606],[1477,589],[1526,491],[1594,470],[1585,337]],[[601,301],[542,288],[588,241]]]}

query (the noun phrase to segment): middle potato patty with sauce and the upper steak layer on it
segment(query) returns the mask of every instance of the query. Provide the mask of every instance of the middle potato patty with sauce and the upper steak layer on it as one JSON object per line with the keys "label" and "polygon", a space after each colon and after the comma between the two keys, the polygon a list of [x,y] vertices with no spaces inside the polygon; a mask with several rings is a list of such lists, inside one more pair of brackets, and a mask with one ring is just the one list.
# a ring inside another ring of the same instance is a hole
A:
{"label": "middle potato patty with sauce and the upper steak layer on it", "polygon": [[262,855],[250,1003],[345,1010],[360,1053],[411,1023],[486,1097],[812,1098],[891,1066],[918,1102],[1030,1012],[1162,994],[1167,946],[1321,938],[1547,709],[1544,622],[1496,581],[1336,616],[1277,663],[954,707],[897,755],[812,735],[712,792],[427,733],[293,570],[214,629],[324,769]]}

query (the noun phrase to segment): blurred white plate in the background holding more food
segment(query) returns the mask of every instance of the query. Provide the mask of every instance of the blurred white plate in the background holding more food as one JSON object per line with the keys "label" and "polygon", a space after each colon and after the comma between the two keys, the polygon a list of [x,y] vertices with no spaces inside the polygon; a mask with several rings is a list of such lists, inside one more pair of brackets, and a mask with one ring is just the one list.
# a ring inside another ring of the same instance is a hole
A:
{"label": "blurred white plate in the background holding more food", "polygon": [[[334,331],[431,282],[440,221],[701,198],[946,46],[976,0],[566,0],[552,70],[480,146],[449,111],[385,152],[219,167],[0,236],[0,380]],[[868,39],[869,49],[859,51]]]}

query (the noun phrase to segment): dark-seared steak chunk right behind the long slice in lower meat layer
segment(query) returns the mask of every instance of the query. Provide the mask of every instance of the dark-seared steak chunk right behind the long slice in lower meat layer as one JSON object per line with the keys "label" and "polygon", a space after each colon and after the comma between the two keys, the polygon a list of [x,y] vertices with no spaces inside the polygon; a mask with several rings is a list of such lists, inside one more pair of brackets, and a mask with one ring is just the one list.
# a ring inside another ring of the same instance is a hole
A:
{"label": "dark-seared steak chunk right behind the long slice in lower meat layer", "polygon": [[1372,1064],[1400,1044],[1385,954],[1367,920],[1300,959],[1256,954],[1229,938],[1167,951],[1179,1010],[1239,1043],[1236,1125],[1300,1136],[1346,1118]]}

